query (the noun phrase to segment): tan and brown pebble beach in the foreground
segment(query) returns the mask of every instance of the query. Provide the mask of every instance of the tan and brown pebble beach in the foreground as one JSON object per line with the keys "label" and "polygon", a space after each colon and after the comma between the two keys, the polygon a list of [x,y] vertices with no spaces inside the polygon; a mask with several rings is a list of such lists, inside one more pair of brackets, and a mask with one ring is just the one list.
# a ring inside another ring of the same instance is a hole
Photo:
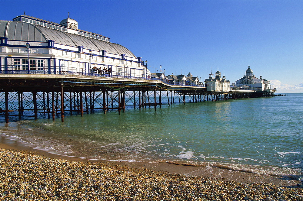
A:
{"label": "tan and brown pebble beach in the foreground", "polygon": [[303,200],[303,189],[0,149],[0,200]]}

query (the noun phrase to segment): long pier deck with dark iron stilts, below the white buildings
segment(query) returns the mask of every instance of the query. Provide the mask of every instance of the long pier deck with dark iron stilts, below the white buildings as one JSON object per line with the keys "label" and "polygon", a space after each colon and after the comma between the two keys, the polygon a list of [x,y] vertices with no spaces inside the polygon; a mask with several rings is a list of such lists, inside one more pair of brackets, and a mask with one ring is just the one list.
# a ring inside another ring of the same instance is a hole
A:
{"label": "long pier deck with dark iron stilts, below the white buildings", "polygon": [[175,103],[225,101],[273,97],[275,90],[207,91],[204,85],[168,83],[161,78],[116,76],[98,73],[15,71],[0,73],[0,115],[61,118],[127,108],[153,109]]}

